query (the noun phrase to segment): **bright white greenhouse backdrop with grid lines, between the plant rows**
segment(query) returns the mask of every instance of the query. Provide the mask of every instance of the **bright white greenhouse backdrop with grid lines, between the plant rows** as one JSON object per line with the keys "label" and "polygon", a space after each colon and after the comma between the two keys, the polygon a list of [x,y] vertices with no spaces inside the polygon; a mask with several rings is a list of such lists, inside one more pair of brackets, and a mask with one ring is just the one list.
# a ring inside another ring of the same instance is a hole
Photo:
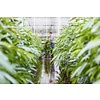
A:
{"label": "bright white greenhouse backdrop with grid lines, between the plant rows", "polygon": [[40,37],[47,37],[50,31],[54,36],[60,34],[60,29],[68,25],[70,17],[25,17],[28,25]]}

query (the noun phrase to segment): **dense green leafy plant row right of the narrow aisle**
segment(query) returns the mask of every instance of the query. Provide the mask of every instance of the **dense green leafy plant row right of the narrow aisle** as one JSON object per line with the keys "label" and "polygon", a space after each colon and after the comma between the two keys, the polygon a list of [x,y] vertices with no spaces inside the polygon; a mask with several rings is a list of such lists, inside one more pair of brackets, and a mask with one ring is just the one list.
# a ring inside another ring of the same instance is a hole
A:
{"label": "dense green leafy plant row right of the narrow aisle", "polygon": [[[100,18],[72,18],[53,51],[62,83],[99,83]],[[67,82],[68,83],[68,82]]]}

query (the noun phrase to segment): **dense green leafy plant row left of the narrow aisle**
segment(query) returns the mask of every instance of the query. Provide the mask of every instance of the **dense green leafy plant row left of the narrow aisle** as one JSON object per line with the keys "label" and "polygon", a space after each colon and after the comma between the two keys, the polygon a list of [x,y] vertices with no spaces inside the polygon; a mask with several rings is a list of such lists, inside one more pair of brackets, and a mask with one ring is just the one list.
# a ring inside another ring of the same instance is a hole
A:
{"label": "dense green leafy plant row left of the narrow aisle", "polygon": [[0,83],[34,83],[41,40],[18,18],[0,18]]}

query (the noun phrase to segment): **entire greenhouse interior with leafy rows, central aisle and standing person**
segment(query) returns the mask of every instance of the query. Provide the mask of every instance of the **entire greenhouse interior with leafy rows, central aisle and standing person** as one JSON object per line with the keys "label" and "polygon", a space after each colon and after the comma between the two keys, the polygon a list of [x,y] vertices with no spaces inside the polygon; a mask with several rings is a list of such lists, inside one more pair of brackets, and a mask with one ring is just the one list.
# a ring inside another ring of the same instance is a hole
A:
{"label": "entire greenhouse interior with leafy rows, central aisle and standing person", "polygon": [[0,17],[0,84],[99,84],[99,17]]}

